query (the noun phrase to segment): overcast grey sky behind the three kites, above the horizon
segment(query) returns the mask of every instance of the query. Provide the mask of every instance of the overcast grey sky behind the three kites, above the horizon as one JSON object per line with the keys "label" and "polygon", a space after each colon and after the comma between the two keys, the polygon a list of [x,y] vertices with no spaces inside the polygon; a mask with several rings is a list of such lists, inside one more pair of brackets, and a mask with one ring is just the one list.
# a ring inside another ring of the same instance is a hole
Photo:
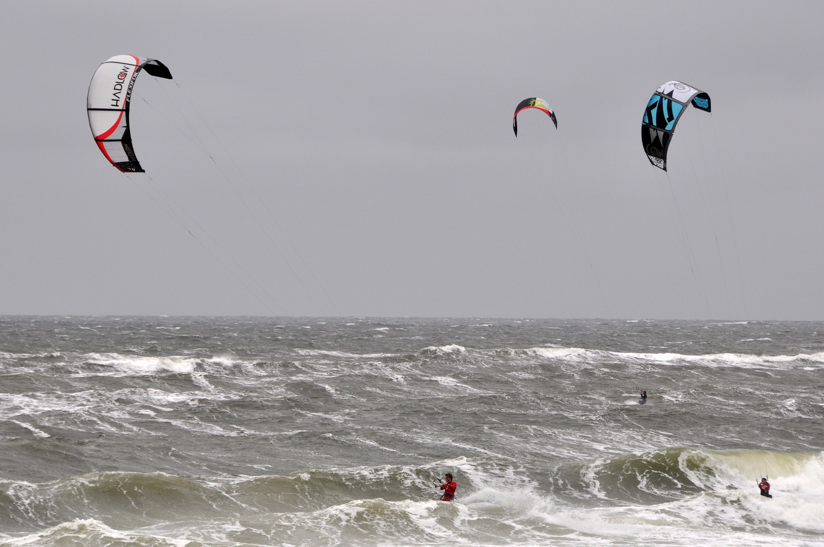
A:
{"label": "overcast grey sky behind the three kites, above the horizon", "polygon": [[[0,314],[824,320],[822,23],[822,2],[2,1]],[[134,87],[146,174],[87,123],[115,54],[175,78]],[[667,177],[639,127],[672,79],[713,114],[682,117]],[[516,139],[530,96],[558,129],[529,110]]]}

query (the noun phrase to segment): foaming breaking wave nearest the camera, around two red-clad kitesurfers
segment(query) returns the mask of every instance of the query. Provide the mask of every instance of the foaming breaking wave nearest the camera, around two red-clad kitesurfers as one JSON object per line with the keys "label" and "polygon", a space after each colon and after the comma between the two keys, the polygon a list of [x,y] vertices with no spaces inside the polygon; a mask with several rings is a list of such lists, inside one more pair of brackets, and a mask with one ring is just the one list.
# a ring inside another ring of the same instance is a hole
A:
{"label": "foaming breaking wave nearest the camera, around two red-clad kitesurfers", "polygon": [[[435,501],[443,470],[458,480],[456,503]],[[753,483],[767,471],[771,500]],[[663,448],[562,465],[546,477],[509,461],[462,457],[222,479],[91,473],[44,484],[0,481],[0,511],[0,545],[148,538],[179,545],[195,529],[206,545],[550,545],[674,539],[687,529],[706,540],[758,543],[765,526],[824,532],[824,456]],[[89,512],[96,520],[84,518]],[[25,532],[33,526],[41,531]]]}

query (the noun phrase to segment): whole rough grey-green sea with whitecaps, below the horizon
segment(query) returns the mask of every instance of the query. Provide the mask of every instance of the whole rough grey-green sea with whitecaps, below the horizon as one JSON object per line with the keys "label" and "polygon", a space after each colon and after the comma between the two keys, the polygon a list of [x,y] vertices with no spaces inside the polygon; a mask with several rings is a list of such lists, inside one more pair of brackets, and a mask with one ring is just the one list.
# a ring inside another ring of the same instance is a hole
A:
{"label": "whole rough grey-green sea with whitecaps, below the horizon", "polygon": [[0,545],[821,546],[822,390],[822,323],[5,316]]}

